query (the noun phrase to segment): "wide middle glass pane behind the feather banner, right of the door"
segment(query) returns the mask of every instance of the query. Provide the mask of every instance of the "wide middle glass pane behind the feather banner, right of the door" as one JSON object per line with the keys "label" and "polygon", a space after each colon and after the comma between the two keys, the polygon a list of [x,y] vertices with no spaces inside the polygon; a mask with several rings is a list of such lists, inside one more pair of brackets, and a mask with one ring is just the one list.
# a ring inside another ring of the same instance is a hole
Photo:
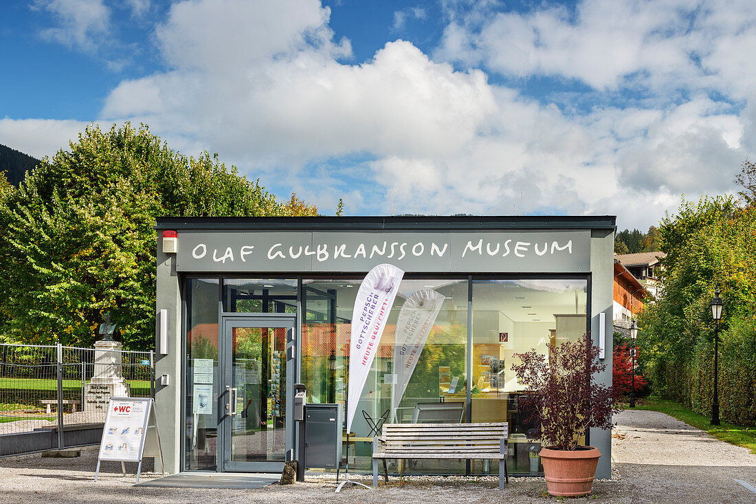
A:
{"label": "wide middle glass pane behind the feather banner, right of the door", "polygon": [[[308,402],[344,404],[352,311],[360,284],[361,278],[302,280],[302,380],[308,387]],[[438,302],[437,313],[423,312],[429,300]],[[425,331],[415,323],[420,320],[427,322]],[[421,340],[426,335],[426,341],[418,341],[419,334]],[[439,421],[445,422],[464,418],[466,341],[466,280],[402,280],[352,423],[355,437],[349,450],[355,470],[370,468],[370,428],[383,415],[387,422],[432,422],[438,415],[444,415]],[[412,358],[404,359],[402,353]],[[398,366],[406,372],[398,372]],[[442,401],[448,403],[443,412],[423,408]],[[396,470],[396,462],[389,461],[389,471]],[[464,470],[464,462],[458,461],[417,461],[403,467],[407,473]]]}

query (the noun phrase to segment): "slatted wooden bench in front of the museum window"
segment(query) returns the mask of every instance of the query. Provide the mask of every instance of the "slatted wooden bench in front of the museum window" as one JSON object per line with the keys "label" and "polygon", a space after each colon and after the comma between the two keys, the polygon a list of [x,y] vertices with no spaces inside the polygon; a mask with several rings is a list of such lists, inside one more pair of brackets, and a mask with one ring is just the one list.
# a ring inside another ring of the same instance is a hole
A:
{"label": "slatted wooden bench in front of the museum window", "polygon": [[488,424],[383,424],[381,437],[373,437],[373,487],[378,486],[378,461],[383,459],[469,459],[498,460],[499,488],[507,471],[506,422]]}

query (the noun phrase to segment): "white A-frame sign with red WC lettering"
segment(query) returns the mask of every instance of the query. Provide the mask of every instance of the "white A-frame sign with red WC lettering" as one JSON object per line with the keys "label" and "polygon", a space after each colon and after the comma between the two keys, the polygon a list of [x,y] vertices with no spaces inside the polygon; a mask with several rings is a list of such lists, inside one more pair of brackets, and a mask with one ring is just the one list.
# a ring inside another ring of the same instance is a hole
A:
{"label": "white A-frame sign with red WC lettering", "polygon": [[[100,442],[95,481],[100,462],[138,462],[137,483],[144,456],[160,456],[160,436],[157,434],[155,403],[150,397],[111,397]],[[124,473],[125,474],[125,473]]]}

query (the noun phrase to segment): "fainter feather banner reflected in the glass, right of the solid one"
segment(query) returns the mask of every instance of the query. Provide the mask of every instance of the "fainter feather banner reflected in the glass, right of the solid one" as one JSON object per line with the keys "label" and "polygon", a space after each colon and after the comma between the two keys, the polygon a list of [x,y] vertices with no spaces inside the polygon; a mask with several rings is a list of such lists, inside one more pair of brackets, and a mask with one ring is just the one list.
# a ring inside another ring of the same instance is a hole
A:
{"label": "fainter feather banner reflected in the glass, right of the solid one", "polygon": [[396,409],[399,407],[407,384],[423,353],[438,311],[444,303],[444,296],[432,289],[414,291],[401,306],[396,322],[394,338],[394,372],[396,380],[392,397],[392,418],[396,421]]}

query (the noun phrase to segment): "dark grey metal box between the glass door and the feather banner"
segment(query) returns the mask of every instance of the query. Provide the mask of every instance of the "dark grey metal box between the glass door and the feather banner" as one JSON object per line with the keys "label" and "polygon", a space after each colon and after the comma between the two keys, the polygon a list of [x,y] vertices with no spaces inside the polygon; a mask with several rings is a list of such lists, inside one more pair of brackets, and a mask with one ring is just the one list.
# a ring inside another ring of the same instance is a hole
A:
{"label": "dark grey metal box between the glass door and the feather banner", "polygon": [[341,404],[305,406],[305,467],[338,469],[342,446]]}

